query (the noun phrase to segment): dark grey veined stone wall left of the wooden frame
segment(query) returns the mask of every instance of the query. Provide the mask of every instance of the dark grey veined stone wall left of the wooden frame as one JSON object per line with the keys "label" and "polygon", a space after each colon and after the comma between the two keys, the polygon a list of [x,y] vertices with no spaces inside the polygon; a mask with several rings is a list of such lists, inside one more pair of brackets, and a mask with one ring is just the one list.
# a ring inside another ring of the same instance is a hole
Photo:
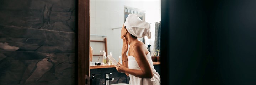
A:
{"label": "dark grey veined stone wall left of the wooden frame", "polygon": [[75,3],[0,1],[0,85],[75,84]]}

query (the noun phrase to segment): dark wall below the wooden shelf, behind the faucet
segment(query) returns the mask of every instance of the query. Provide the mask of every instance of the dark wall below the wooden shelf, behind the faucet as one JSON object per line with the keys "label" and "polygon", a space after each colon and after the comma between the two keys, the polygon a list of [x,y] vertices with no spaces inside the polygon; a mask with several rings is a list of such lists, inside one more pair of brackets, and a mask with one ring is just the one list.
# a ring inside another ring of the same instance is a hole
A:
{"label": "dark wall below the wooden shelf, behind the faucet", "polygon": [[[160,74],[160,65],[154,65],[156,72]],[[116,68],[100,68],[100,69],[91,69],[90,74],[95,74],[94,77],[97,78],[98,83],[93,85],[105,85],[104,73],[112,73],[109,75],[109,78],[114,78],[113,81],[110,81],[109,84],[117,83],[127,83],[129,84],[130,78],[127,77],[124,73],[119,73]]]}

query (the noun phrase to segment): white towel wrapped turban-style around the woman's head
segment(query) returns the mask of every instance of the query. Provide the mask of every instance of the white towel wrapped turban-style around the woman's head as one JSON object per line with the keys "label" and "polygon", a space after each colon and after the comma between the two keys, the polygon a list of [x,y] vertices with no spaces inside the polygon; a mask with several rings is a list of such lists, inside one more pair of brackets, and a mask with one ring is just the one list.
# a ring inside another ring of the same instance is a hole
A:
{"label": "white towel wrapped turban-style around the woman's head", "polygon": [[146,21],[142,21],[135,14],[129,14],[124,22],[127,31],[137,38],[147,36],[151,38],[150,24]]}

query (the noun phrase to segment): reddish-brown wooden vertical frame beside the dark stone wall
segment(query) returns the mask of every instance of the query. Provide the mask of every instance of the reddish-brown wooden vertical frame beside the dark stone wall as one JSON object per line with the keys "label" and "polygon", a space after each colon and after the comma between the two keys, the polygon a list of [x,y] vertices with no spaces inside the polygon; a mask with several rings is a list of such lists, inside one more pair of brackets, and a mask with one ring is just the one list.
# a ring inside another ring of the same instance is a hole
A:
{"label": "reddish-brown wooden vertical frame beside the dark stone wall", "polygon": [[[77,85],[90,85],[90,0],[78,0]],[[76,80],[76,79],[75,79]]]}

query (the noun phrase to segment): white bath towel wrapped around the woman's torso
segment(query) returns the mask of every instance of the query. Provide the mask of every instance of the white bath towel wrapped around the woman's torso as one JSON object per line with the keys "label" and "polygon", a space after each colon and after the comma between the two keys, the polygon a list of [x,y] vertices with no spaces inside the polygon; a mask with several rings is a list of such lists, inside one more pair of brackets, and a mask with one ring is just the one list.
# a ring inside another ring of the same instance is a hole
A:
{"label": "white bath towel wrapped around the woman's torso", "polygon": [[[129,75],[130,76],[130,82],[129,84],[131,85],[160,85],[160,75],[156,72],[154,66],[153,66],[153,61],[152,58],[150,56],[150,53],[148,53],[146,55],[146,58],[149,61],[150,67],[153,71],[153,78],[139,78],[139,77],[135,77],[134,75]],[[140,70],[140,67],[138,65],[138,63],[135,60],[135,57],[133,56],[128,56],[128,67],[129,69],[137,69]]]}

